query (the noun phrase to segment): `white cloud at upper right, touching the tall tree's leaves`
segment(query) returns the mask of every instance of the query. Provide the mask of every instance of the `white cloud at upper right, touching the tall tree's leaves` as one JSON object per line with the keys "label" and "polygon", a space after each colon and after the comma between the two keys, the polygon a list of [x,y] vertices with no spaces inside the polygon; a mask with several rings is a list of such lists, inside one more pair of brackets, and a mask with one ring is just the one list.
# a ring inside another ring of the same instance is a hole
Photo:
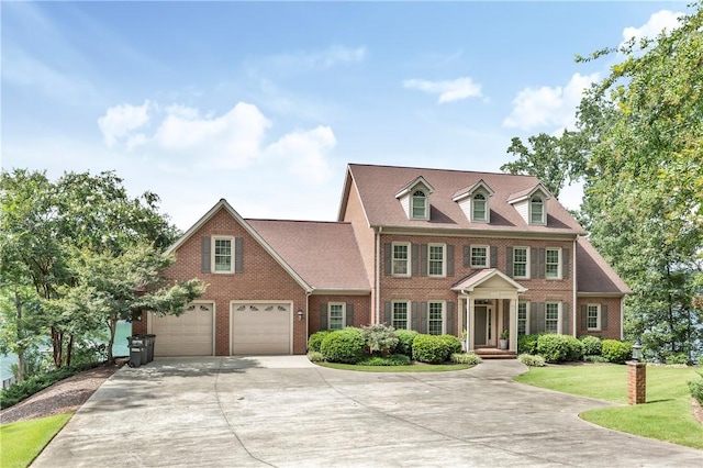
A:
{"label": "white cloud at upper right, touching the tall tree's leaves", "polygon": [[583,91],[598,79],[598,74],[574,74],[563,87],[525,88],[513,99],[513,111],[503,120],[503,125],[524,131],[571,126],[576,122],[576,109]]}

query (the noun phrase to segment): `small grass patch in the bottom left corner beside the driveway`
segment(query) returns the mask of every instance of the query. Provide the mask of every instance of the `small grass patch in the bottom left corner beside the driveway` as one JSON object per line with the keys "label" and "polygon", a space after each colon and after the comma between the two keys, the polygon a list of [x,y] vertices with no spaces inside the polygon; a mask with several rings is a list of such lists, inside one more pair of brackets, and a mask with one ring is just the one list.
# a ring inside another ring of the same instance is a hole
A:
{"label": "small grass patch in the bottom left corner beside the driveway", "polygon": [[29,467],[74,413],[0,425],[0,466]]}

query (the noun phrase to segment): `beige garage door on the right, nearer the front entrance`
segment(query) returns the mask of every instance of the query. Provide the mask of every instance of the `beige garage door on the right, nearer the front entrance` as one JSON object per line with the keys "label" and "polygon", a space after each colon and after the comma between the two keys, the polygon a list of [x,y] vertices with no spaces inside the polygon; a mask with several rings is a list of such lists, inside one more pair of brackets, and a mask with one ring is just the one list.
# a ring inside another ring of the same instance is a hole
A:
{"label": "beige garage door on the right, nearer the front entrance", "polygon": [[290,354],[290,303],[233,303],[232,354]]}

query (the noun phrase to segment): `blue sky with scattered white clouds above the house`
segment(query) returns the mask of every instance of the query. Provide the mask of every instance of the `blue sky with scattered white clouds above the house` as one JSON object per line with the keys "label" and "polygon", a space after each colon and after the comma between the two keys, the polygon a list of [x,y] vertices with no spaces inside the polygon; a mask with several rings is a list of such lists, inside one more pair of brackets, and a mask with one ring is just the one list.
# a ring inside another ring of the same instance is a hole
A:
{"label": "blue sky with scattered white clouds above the house", "polygon": [[[7,2],[2,167],[115,170],[188,229],[334,220],[348,163],[499,171],[685,2]],[[578,187],[562,202],[577,208]]]}

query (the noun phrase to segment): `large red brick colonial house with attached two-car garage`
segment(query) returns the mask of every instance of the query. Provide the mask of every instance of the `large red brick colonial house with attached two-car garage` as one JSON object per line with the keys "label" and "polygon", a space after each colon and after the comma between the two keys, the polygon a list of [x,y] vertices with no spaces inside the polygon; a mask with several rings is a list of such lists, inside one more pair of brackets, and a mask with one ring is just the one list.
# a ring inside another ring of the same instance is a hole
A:
{"label": "large red brick colonial house with attached two-car garage", "polygon": [[308,336],[387,323],[621,338],[631,291],[534,177],[352,164],[337,222],[243,219],[220,200],[170,247],[170,278],[205,294],[176,317],[145,314],[160,356],[304,354]]}

